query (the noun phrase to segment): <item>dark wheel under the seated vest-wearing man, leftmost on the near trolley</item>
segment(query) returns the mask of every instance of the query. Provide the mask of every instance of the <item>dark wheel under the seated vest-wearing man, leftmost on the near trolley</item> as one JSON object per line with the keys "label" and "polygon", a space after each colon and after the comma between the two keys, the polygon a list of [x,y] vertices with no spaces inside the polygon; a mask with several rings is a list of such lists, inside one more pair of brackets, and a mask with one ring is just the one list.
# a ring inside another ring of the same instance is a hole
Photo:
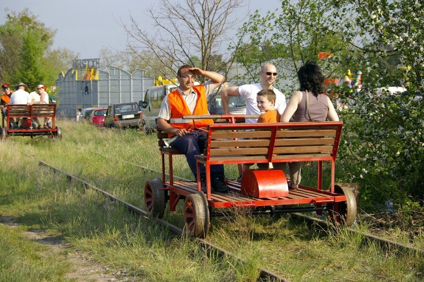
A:
{"label": "dark wheel under the seated vest-wearing man, leftmost on the near trolley", "polygon": [[144,204],[149,216],[162,218],[165,212],[166,191],[159,177],[148,180],[144,186]]}

